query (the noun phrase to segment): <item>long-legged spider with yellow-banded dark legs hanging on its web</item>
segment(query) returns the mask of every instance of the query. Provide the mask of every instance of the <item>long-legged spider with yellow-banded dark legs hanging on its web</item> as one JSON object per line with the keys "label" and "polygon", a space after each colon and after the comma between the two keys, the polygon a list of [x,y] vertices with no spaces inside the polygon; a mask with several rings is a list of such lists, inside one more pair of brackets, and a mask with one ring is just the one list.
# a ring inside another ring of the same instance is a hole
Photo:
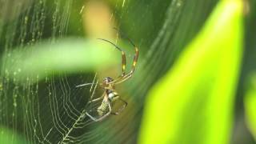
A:
{"label": "long-legged spider with yellow-banded dark legs hanging on its web", "polygon": [[[105,41],[113,45],[117,50],[119,50],[122,54],[122,74],[120,74],[117,78],[113,79],[110,77],[103,78],[102,82],[99,84],[102,89],[104,90],[102,96],[100,98],[95,98],[91,100],[88,104],[91,102],[97,102],[102,99],[102,103],[100,106],[98,106],[97,110],[89,110],[86,112],[86,115],[89,116],[94,122],[102,121],[104,118],[109,116],[110,114],[118,115],[126,108],[128,103],[120,98],[118,95],[118,92],[115,90],[115,85],[119,84],[121,82],[125,82],[127,79],[131,78],[134,74],[135,66],[138,62],[138,47],[134,45],[134,43],[129,39],[129,42],[132,46],[134,46],[135,54],[134,54],[134,61],[131,67],[131,70],[128,74],[126,74],[126,54],[125,52],[118,46],[116,46],[113,42],[110,42],[106,39],[98,38],[99,40]],[[86,83],[79,86],[87,86],[94,83]],[[79,87],[77,86],[77,87]],[[117,111],[114,112],[112,109],[114,102],[117,100],[120,100],[123,104],[122,107],[119,108]],[[90,114],[90,112],[96,112],[99,115],[99,118],[95,118]],[[106,114],[105,114],[106,113]]]}

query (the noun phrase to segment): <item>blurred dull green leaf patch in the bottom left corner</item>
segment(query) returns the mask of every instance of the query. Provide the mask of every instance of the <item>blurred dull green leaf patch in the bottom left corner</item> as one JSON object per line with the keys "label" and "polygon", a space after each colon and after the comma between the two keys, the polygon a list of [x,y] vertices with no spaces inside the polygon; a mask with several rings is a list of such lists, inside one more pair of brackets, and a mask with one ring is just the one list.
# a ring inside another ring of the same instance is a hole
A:
{"label": "blurred dull green leaf patch in the bottom left corner", "polygon": [[15,134],[14,131],[8,130],[4,127],[0,127],[0,142],[1,143],[12,143],[12,144],[25,144],[24,138],[20,135]]}

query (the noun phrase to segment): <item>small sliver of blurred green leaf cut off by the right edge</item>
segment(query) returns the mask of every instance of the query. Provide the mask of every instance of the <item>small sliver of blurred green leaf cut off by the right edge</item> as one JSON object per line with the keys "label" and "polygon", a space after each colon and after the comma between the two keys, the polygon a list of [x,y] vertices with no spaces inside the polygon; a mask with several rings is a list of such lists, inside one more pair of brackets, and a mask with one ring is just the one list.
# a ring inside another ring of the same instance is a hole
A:
{"label": "small sliver of blurred green leaf cut off by the right edge", "polygon": [[247,126],[256,139],[256,74],[250,77],[249,90],[244,98]]}

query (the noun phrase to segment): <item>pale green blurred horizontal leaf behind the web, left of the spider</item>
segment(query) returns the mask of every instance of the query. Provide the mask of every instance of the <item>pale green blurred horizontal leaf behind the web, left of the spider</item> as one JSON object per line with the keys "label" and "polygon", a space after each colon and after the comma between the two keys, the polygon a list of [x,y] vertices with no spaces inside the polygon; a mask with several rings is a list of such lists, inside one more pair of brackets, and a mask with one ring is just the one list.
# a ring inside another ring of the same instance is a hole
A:
{"label": "pale green blurred horizontal leaf behind the web, left of the spider", "polygon": [[26,46],[4,54],[2,66],[5,75],[14,81],[33,81],[61,72],[93,72],[118,62],[118,50],[106,42],[95,41],[64,38],[55,43]]}

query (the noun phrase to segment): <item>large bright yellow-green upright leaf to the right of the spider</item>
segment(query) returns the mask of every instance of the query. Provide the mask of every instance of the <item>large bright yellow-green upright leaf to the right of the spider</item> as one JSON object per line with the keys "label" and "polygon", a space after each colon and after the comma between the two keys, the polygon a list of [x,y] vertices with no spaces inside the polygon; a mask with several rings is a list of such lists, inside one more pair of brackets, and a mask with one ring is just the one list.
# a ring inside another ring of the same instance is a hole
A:
{"label": "large bright yellow-green upright leaf to the right of the spider", "polygon": [[242,1],[221,1],[146,99],[139,143],[226,144],[242,56]]}

